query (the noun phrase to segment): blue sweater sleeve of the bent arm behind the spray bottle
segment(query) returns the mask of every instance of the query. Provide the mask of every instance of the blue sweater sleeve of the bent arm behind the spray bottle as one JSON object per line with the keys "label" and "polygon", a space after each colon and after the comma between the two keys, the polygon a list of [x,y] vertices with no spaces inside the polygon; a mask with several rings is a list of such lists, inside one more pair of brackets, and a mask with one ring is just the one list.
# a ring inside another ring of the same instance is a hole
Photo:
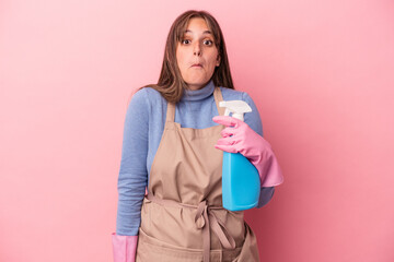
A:
{"label": "blue sweater sleeve of the bent arm behind the spray bottle", "polygon": [[[247,123],[247,126],[250,126],[251,129],[253,129],[253,131],[255,131],[259,135],[264,136],[263,135],[262,119],[260,119],[260,116],[258,114],[258,110],[257,110],[257,107],[256,107],[255,103],[253,102],[252,97],[247,93],[243,93],[243,99],[252,108],[252,112],[246,112],[245,114],[245,117],[244,117],[245,123]],[[274,192],[275,192],[274,187],[268,187],[268,188],[262,187],[258,204],[257,204],[256,207],[260,209],[264,205],[268,204],[268,202],[271,200],[271,198],[274,195]]]}

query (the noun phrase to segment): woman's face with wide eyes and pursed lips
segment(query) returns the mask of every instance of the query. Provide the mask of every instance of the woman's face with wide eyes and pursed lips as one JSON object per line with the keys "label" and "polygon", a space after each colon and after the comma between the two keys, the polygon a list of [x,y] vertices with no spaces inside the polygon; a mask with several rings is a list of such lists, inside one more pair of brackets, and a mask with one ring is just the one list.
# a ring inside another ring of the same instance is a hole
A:
{"label": "woman's face with wide eyes and pursed lips", "polygon": [[190,90],[204,87],[220,63],[213,35],[204,19],[190,19],[176,46],[176,61],[183,80]]}

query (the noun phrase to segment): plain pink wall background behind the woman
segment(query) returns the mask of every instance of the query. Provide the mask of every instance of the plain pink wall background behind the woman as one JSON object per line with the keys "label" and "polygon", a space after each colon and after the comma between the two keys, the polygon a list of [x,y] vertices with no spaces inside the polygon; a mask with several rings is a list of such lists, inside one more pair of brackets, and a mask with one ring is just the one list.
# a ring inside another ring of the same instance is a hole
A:
{"label": "plain pink wall background behind the woman", "polygon": [[248,211],[262,261],[394,261],[394,3],[0,3],[0,261],[112,261],[131,93],[174,19],[210,11],[285,183]]}

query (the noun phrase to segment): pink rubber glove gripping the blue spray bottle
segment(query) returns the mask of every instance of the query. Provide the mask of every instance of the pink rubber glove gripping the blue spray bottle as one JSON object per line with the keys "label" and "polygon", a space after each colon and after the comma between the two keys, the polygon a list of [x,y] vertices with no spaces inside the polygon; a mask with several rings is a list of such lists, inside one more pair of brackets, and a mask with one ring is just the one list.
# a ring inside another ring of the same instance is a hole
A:
{"label": "pink rubber glove gripping the blue spray bottle", "polygon": [[212,120],[227,127],[221,131],[222,138],[218,140],[216,148],[244,155],[257,168],[260,187],[274,187],[283,182],[273,148],[262,135],[236,118],[217,116]]}

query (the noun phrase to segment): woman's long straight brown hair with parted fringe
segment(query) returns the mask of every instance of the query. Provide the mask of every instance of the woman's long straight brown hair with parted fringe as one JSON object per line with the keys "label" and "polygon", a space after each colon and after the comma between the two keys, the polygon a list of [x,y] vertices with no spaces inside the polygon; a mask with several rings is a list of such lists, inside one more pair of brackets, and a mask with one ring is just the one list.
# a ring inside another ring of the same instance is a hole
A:
{"label": "woman's long straight brown hair with parted fringe", "polygon": [[188,90],[188,86],[183,80],[176,62],[176,46],[177,43],[182,40],[187,24],[193,17],[201,17],[206,21],[208,28],[212,32],[215,45],[218,48],[220,64],[215,69],[213,75],[211,78],[211,80],[213,80],[215,86],[223,86],[234,90],[224,38],[218,22],[210,13],[206,11],[189,10],[181,14],[170,28],[158,84],[149,84],[141,87],[152,87],[157,90],[167,102],[171,103],[179,102],[183,95],[183,91]]}

